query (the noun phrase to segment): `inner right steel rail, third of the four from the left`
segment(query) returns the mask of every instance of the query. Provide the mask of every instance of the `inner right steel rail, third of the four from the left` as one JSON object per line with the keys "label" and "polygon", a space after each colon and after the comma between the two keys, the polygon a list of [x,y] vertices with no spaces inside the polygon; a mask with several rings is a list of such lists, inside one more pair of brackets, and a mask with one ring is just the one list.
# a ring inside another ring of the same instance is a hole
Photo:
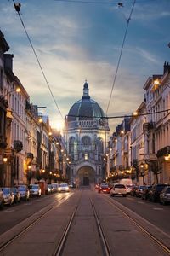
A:
{"label": "inner right steel rail, third of the four from the left", "polygon": [[96,209],[94,207],[94,202],[92,201],[91,198],[90,198],[90,201],[91,201],[92,208],[94,210],[94,217],[95,217],[96,224],[97,224],[97,227],[98,227],[98,230],[99,230],[99,237],[100,237],[102,245],[104,247],[104,255],[105,256],[111,256],[112,255],[111,249],[110,249],[109,244],[108,244],[108,242],[105,238],[105,234],[104,234],[104,231],[102,230],[101,224],[99,223],[99,217],[98,217],[98,214],[97,214]]}

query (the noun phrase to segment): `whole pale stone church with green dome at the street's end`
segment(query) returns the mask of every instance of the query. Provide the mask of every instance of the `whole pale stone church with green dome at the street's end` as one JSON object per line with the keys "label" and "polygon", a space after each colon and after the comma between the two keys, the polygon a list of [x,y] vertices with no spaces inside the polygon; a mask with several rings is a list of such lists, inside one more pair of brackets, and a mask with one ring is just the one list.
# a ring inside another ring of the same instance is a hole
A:
{"label": "whole pale stone church with green dome at the street's end", "polygon": [[71,159],[70,180],[81,185],[99,183],[105,178],[104,153],[109,138],[108,119],[99,104],[89,96],[87,81],[82,99],[65,117],[64,139]]}

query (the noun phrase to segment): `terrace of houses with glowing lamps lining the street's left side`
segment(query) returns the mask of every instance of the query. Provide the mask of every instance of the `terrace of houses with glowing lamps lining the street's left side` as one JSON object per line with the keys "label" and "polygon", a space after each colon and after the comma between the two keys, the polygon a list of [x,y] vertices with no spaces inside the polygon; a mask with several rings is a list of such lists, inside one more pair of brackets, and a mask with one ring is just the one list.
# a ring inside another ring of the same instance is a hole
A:
{"label": "terrace of houses with glowing lamps lining the street's left side", "polygon": [[58,156],[64,152],[64,143],[59,142],[59,133],[53,134],[48,116],[30,103],[13,73],[14,55],[7,54],[8,49],[0,31],[0,186],[56,181],[69,166]]}

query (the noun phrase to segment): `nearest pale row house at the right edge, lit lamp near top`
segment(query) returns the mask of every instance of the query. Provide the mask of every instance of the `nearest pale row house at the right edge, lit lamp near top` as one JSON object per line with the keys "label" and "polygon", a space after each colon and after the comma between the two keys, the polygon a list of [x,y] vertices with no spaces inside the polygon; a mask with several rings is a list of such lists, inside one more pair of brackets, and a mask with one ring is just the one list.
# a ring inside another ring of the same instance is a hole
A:
{"label": "nearest pale row house at the right edge, lit lamp near top", "polygon": [[170,182],[170,65],[162,75],[153,75],[144,84],[147,120],[145,158],[152,177],[150,183]]}

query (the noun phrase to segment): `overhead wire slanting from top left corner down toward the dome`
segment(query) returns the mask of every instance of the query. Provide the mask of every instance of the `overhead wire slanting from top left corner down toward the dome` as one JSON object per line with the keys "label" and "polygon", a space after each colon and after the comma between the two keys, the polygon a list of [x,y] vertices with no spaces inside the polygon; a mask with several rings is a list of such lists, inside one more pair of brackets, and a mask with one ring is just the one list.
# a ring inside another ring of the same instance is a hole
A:
{"label": "overhead wire slanting from top left corner down toward the dome", "polygon": [[51,96],[53,97],[55,106],[57,107],[61,118],[64,119],[64,118],[63,118],[63,115],[62,115],[62,113],[61,113],[61,111],[60,111],[60,109],[59,109],[59,106],[58,106],[58,104],[57,104],[57,102],[56,102],[56,100],[55,100],[53,91],[51,90],[50,85],[49,85],[49,83],[48,83],[48,79],[47,79],[47,77],[46,77],[46,75],[45,75],[45,73],[44,73],[44,71],[43,71],[43,69],[42,69],[42,65],[41,65],[41,63],[40,63],[40,61],[39,61],[39,59],[38,59],[36,50],[35,50],[33,44],[31,43],[31,38],[30,38],[30,36],[29,36],[29,34],[28,34],[27,30],[26,30],[26,26],[25,26],[25,24],[24,24],[24,21],[23,21],[22,18],[21,18],[21,15],[20,15],[20,3],[15,3],[14,0],[13,0],[13,3],[14,3],[14,9],[15,9],[16,12],[18,13],[19,18],[20,18],[20,22],[21,22],[21,24],[22,24],[22,26],[23,26],[23,28],[24,28],[24,30],[25,30],[25,32],[26,32],[26,37],[28,38],[28,41],[29,41],[29,43],[31,44],[31,49],[33,50],[33,53],[34,53],[34,55],[35,55],[35,57],[36,57],[38,66],[39,66],[40,69],[41,69],[42,76],[43,76],[43,78],[45,79],[46,84],[48,85],[48,90],[50,91]]}

